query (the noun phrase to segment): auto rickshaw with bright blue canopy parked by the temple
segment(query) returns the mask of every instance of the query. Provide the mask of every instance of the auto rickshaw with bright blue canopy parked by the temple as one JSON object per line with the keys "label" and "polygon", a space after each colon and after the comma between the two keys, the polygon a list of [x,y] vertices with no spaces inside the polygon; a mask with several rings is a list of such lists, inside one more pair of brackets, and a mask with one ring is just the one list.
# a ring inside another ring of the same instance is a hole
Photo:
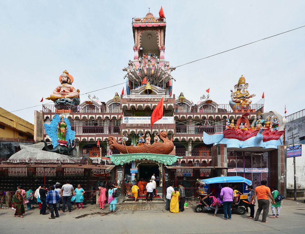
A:
{"label": "auto rickshaw with bright blue canopy parked by the temple", "polygon": [[[242,193],[236,202],[237,204],[233,204],[232,211],[235,211],[237,214],[245,214],[248,212],[249,202],[247,200],[247,195],[249,193],[248,185],[252,185],[252,182],[246,178],[241,176],[221,176],[214,177],[204,180],[198,180],[196,183],[196,187],[198,186],[198,202],[196,202],[197,206],[195,207],[196,212],[202,212],[203,210],[211,210],[211,199],[209,198],[211,187],[216,189],[215,196],[217,199],[220,199],[221,188],[224,187],[224,183],[229,183],[229,186],[237,185],[237,190]],[[213,189],[215,191],[215,189]],[[218,209],[223,210],[222,202],[221,206]]]}

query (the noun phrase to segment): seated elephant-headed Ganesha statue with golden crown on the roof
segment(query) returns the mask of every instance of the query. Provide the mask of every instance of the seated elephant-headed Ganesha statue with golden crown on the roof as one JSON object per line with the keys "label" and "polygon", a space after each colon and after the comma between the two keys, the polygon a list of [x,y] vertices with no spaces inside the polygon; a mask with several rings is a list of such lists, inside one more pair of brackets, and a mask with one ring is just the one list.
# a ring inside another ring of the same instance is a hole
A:
{"label": "seated elephant-headed Ganesha statue with golden crown on the roof", "polygon": [[248,92],[249,84],[246,83],[245,77],[241,76],[238,80],[237,85],[234,86],[234,92],[231,90],[231,101],[229,104],[232,110],[236,109],[248,109],[249,105],[252,103],[250,98],[255,97],[255,94],[249,94]]}

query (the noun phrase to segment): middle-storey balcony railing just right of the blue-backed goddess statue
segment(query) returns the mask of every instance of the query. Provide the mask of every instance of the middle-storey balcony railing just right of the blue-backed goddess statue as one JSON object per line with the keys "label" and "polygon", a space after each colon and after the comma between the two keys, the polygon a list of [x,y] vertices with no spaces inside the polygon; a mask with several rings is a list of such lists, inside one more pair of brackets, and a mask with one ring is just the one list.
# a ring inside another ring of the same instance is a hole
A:
{"label": "middle-storey balcony railing just right of the blue-backed goddess statue", "polygon": [[72,126],[75,135],[83,134],[120,134],[119,126]]}

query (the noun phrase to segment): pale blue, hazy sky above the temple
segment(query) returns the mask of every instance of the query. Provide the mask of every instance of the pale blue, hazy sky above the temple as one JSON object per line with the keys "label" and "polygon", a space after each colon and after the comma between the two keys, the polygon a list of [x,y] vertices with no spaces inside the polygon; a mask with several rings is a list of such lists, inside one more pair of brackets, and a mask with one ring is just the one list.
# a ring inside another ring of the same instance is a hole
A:
{"label": "pale blue, hazy sky above the temple", "polygon": [[[1,1],[0,107],[34,123],[34,110],[64,70],[81,94],[124,82],[133,59],[133,17],[159,16],[161,1]],[[162,1],[165,60],[176,67],[305,25],[305,1]],[[305,27],[178,67],[173,94],[194,103],[207,95],[228,104],[243,75],[248,91],[264,92],[264,111],[303,110]],[[91,93],[113,98],[124,85]],[[88,95],[81,95],[81,102]],[[40,105],[40,106],[37,106]],[[1,113],[0,113],[1,114]]]}

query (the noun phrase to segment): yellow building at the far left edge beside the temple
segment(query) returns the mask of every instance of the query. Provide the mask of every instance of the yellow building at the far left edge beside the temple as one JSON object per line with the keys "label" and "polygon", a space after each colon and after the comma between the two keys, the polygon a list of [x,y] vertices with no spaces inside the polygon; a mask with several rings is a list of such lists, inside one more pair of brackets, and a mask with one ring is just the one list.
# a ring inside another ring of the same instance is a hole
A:
{"label": "yellow building at the far left edge beside the temple", "polygon": [[0,139],[34,139],[34,124],[0,107]]}

